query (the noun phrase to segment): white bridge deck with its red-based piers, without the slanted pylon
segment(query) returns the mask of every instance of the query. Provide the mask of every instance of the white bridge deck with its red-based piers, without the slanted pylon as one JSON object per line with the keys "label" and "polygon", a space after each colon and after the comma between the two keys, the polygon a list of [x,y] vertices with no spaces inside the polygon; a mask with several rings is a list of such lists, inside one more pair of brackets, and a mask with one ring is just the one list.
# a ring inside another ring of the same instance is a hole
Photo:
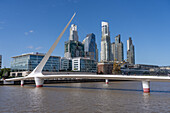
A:
{"label": "white bridge deck with its red-based piers, without the slanted pylon", "polygon": [[18,77],[6,79],[6,82],[9,81],[21,81],[21,86],[24,86],[24,80],[35,79],[36,87],[43,87],[44,79],[49,78],[84,78],[84,79],[105,79],[106,84],[111,80],[134,80],[141,81],[143,91],[145,93],[150,92],[150,81],[160,81],[160,82],[170,82],[170,77],[165,76],[130,76],[130,75],[43,75],[39,74],[36,77],[27,76],[27,77]]}

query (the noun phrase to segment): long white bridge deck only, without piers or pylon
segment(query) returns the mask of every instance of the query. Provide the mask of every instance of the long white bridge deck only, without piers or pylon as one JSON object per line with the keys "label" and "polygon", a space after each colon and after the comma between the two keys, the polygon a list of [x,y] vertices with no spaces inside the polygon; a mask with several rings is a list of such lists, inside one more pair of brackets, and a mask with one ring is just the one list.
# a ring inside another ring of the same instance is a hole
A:
{"label": "long white bridge deck only, without piers or pylon", "polygon": [[[137,80],[137,81],[164,81],[170,82],[170,77],[168,76],[134,76],[134,75],[40,75],[36,76],[38,78],[48,79],[48,78],[85,78],[85,79],[114,79],[114,80]],[[18,77],[6,79],[6,81],[18,81],[33,79],[33,76]]]}

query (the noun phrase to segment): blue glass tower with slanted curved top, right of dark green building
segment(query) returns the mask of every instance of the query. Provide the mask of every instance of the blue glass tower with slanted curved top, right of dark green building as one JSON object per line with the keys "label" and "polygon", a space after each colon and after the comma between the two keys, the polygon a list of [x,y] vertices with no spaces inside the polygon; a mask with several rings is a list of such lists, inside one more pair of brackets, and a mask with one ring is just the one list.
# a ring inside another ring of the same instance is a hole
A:
{"label": "blue glass tower with slanted curved top, right of dark green building", "polygon": [[83,40],[83,44],[84,44],[84,56],[85,57],[89,57],[92,60],[96,60],[97,61],[97,57],[96,57],[96,49],[97,49],[97,45],[96,45],[96,41],[95,41],[95,35],[93,33],[88,34],[86,36],[86,38]]}

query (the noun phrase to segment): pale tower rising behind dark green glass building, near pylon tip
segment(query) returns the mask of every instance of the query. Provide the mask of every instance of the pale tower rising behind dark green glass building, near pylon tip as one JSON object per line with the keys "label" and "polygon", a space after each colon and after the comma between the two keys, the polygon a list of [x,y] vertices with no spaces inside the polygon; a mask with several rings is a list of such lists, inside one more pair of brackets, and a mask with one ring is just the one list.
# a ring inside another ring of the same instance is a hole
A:
{"label": "pale tower rising behind dark green glass building, near pylon tip", "polygon": [[77,25],[72,24],[70,27],[69,40],[78,41]]}

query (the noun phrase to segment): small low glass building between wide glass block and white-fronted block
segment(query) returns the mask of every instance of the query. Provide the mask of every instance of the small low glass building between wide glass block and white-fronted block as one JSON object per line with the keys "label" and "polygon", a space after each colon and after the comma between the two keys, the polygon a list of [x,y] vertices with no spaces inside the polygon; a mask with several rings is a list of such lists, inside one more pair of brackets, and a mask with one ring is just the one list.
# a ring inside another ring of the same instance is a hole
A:
{"label": "small low glass building between wide glass block and white-fronted block", "polygon": [[70,70],[71,71],[72,70],[72,59],[62,57],[60,59],[60,70],[62,70],[62,71]]}

